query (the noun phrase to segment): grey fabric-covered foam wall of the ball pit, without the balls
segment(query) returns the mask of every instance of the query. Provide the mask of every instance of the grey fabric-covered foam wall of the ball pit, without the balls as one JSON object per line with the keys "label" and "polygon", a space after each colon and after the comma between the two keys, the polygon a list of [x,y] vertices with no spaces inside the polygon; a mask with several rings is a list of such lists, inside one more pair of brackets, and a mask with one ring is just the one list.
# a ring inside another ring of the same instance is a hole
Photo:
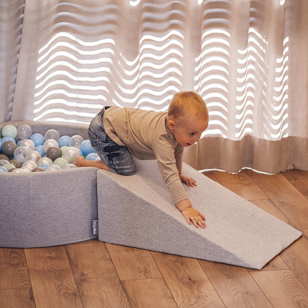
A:
{"label": "grey fabric-covered foam wall of the ball pit, without the balls", "polygon": [[[88,139],[85,124],[42,121],[0,123],[28,124],[32,133],[54,128],[63,135]],[[97,236],[91,220],[97,219],[97,168],[59,171],[0,173],[0,247],[30,248],[64,245]]]}

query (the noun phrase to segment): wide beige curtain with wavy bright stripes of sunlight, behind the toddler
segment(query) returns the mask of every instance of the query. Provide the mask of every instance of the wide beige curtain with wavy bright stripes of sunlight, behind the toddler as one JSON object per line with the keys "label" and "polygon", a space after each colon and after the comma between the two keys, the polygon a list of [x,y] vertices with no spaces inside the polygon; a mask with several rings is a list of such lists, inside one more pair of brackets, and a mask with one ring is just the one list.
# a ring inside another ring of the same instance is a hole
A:
{"label": "wide beige curtain with wavy bright stripes of sunlight, behind the toddler", "polygon": [[197,169],[308,169],[305,0],[26,0],[11,120],[89,123],[195,90]]}

